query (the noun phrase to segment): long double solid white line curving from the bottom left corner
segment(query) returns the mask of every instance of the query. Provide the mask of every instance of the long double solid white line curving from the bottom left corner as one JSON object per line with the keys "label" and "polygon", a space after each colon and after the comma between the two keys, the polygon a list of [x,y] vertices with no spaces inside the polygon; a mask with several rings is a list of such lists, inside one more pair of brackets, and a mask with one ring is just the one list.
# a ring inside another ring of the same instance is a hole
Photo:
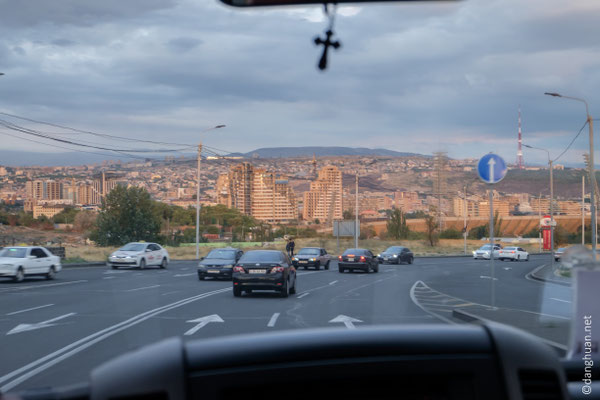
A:
{"label": "long double solid white line curving from the bottom left corner", "polygon": [[[47,370],[48,368],[51,368],[52,366],[58,364],[59,362],[66,360],[67,358],[70,358],[70,357],[80,353],[81,351],[87,349],[88,347],[91,347],[92,345],[94,345],[98,342],[101,342],[102,340],[104,340],[110,336],[113,336],[125,329],[128,329],[137,324],[140,324],[154,316],[162,314],[163,312],[170,311],[172,309],[187,305],[187,304],[192,303],[197,300],[202,300],[204,298],[207,298],[207,297],[210,297],[210,296],[213,296],[216,294],[230,292],[230,291],[231,291],[231,288],[224,288],[224,289],[213,290],[211,292],[206,292],[206,293],[202,293],[202,294],[199,294],[196,296],[188,297],[188,298],[173,302],[171,304],[167,304],[166,306],[158,307],[158,308],[143,312],[143,313],[135,315],[125,321],[119,322],[118,324],[115,324],[115,325],[109,326],[108,328],[97,331],[97,332],[95,332],[91,335],[88,335],[82,339],[79,339],[76,342],[73,342],[59,350],[56,350],[53,353],[47,354],[46,356],[39,358],[36,361],[33,361],[21,368],[18,368],[12,372],[9,372],[8,374],[6,374],[4,376],[0,376],[0,383],[7,382],[10,379],[18,376],[17,378],[13,379],[12,381],[5,383],[4,386],[0,387],[0,391],[8,392],[9,390],[12,390],[17,385],[36,376],[37,374]],[[22,375],[19,376],[19,374],[22,374]]]}

